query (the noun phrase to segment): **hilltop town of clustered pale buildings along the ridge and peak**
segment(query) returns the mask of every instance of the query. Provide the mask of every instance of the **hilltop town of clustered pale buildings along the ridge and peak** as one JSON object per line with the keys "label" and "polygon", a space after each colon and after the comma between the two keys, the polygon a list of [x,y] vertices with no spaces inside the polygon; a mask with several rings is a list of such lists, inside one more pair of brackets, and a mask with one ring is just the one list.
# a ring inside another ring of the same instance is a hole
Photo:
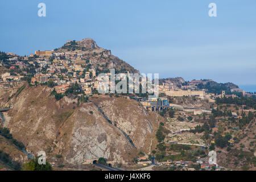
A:
{"label": "hilltop town of clustered pale buildings along the ridge and peak", "polygon": [[[98,47],[92,39],[68,40],[61,48],[35,51],[30,56],[1,53],[1,67],[1,88],[8,88],[18,81],[28,81],[31,85],[51,81],[56,93],[60,94],[64,94],[75,83],[79,84],[86,95],[93,94],[98,88],[97,75],[110,75],[111,68],[115,68],[116,73],[139,73],[125,61],[113,56],[110,50]],[[183,78],[168,78],[160,79],[159,82],[159,93],[171,97],[211,99],[220,97],[221,89],[229,91],[229,95],[232,92],[240,92],[243,96],[253,95],[232,83],[222,84],[218,90],[207,89],[210,84],[217,84],[213,80],[184,81]]]}

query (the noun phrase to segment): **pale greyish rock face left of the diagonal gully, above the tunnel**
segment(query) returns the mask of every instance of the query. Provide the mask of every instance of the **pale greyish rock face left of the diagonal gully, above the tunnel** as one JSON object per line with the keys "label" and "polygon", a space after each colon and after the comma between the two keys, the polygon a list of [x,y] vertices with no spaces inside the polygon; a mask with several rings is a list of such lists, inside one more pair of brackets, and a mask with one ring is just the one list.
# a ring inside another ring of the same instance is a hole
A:
{"label": "pale greyish rock face left of the diagonal gully, above the tunnel", "polygon": [[106,121],[93,103],[83,104],[69,121],[75,123],[65,155],[68,163],[80,164],[84,159],[100,157],[123,162],[125,154],[135,151],[129,140]]}

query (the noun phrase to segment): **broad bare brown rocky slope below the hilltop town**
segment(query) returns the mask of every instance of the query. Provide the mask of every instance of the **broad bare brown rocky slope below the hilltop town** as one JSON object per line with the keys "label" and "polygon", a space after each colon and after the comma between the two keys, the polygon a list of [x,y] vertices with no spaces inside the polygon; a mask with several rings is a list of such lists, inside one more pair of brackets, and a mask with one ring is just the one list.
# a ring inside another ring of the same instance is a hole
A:
{"label": "broad bare brown rocky slope below the hilltop town", "polygon": [[51,91],[26,86],[5,113],[4,125],[32,155],[46,151],[49,159],[59,154],[68,164],[100,157],[126,163],[154,148],[157,115],[137,102],[101,95],[77,107],[74,98],[56,101]]}

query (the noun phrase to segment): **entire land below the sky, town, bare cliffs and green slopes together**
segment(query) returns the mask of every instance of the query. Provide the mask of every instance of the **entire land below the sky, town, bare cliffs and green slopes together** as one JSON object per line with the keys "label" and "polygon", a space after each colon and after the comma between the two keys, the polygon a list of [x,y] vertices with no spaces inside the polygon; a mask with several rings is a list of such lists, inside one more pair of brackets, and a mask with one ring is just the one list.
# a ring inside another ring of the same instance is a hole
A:
{"label": "entire land below the sky, town, bare cliffs and green slopes together", "polygon": [[[45,150],[58,170],[95,169],[96,160],[139,170],[255,169],[256,93],[177,77],[159,79],[158,98],[100,94],[98,75],[112,68],[139,74],[92,39],[29,56],[1,52],[0,164],[8,146],[20,164]],[[212,150],[218,165],[209,163]]]}

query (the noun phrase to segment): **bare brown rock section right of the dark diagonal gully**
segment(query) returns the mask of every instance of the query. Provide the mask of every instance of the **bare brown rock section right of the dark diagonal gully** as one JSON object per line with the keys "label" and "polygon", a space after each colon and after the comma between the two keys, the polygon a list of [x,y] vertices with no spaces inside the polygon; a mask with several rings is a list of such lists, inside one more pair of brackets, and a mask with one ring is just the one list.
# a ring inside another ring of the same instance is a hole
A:
{"label": "bare brown rock section right of the dark diagonal gully", "polygon": [[158,125],[155,115],[147,114],[140,104],[125,98],[101,96],[93,97],[92,101],[115,127],[131,139],[135,148],[149,152],[150,140],[154,138]]}

